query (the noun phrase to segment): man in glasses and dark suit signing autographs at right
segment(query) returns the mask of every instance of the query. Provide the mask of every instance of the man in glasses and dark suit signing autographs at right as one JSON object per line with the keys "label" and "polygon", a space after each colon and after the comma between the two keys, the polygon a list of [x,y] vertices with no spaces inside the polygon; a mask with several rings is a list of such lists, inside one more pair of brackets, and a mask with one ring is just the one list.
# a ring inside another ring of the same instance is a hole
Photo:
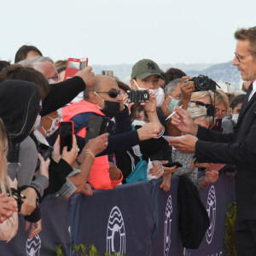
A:
{"label": "man in glasses and dark suit signing autographs at right", "polygon": [[199,162],[235,164],[236,176],[236,252],[241,256],[256,255],[256,26],[239,29],[235,58],[241,79],[253,83],[242,102],[236,131],[221,134],[195,125],[183,109],[177,108],[172,125],[188,133],[170,140],[170,145],[195,153]]}

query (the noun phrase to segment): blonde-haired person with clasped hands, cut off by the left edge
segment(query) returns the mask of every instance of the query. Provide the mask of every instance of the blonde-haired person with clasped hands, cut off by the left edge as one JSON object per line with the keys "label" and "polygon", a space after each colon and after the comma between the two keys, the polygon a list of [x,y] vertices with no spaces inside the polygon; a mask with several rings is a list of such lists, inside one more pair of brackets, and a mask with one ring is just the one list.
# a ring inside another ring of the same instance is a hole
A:
{"label": "blonde-haired person with clasped hands, cut off by the left edge", "polygon": [[8,141],[3,120],[0,118],[0,240],[9,241],[18,230],[17,202],[11,196],[10,187],[17,189],[17,180],[13,182],[7,176]]}

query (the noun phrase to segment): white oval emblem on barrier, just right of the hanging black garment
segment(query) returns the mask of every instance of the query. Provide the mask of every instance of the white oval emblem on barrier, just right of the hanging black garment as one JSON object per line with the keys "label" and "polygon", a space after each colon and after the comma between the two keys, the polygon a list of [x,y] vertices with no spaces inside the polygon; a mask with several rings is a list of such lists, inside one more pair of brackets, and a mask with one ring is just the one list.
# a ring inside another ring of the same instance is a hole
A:
{"label": "white oval emblem on barrier, just right of the hanging black garment", "polygon": [[212,241],[214,227],[215,227],[215,220],[216,220],[216,196],[215,196],[215,189],[212,186],[208,193],[207,199],[207,212],[210,218],[210,227],[207,230],[207,243],[210,244]]}

